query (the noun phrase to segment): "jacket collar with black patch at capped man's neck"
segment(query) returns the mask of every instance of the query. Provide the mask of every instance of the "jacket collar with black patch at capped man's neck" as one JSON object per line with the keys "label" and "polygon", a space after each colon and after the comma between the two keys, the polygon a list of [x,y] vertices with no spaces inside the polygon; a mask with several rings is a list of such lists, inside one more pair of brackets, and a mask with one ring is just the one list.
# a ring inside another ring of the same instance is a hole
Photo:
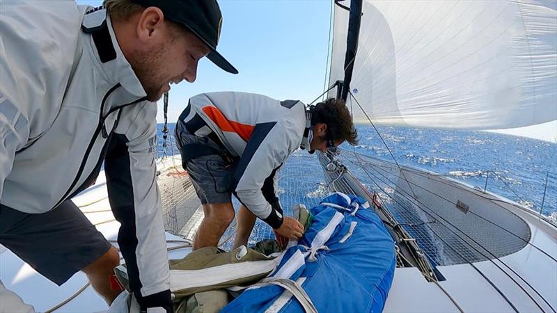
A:
{"label": "jacket collar with black patch at capped man's neck", "polygon": [[84,33],[91,34],[93,54],[107,77],[113,80],[113,83],[120,83],[128,93],[145,97],[145,90],[132,70],[132,65],[120,50],[107,10],[100,7],[88,11],[81,29]]}

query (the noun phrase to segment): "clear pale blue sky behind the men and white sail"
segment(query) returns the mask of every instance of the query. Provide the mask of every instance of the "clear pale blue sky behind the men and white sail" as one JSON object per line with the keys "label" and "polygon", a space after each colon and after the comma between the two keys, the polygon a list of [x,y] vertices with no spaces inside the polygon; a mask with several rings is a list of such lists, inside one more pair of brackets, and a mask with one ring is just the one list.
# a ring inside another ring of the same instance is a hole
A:
{"label": "clear pale blue sky behind the men and white sail", "polygon": [[[102,3],[100,0],[77,2],[91,6]],[[276,99],[313,101],[324,86],[331,3],[329,0],[219,0],[223,26],[218,49],[240,74],[223,72],[204,58],[194,83],[171,86],[168,122],[178,119],[189,97],[210,91],[245,91]],[[157,121],[163,121],[162,102],[159,102]],[[498,132],[556,143],[557,120]]]}

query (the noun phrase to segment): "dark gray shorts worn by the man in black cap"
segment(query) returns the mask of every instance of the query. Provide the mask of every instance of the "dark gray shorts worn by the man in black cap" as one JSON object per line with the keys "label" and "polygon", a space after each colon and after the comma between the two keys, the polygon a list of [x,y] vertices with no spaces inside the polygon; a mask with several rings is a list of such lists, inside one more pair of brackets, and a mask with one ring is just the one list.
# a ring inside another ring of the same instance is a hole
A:
{"label": "dark gray shorts worn by the man in black cap", "polygon": [[42,214],[0,204],[0,243],[58,285],[111,247],[71,200]]}

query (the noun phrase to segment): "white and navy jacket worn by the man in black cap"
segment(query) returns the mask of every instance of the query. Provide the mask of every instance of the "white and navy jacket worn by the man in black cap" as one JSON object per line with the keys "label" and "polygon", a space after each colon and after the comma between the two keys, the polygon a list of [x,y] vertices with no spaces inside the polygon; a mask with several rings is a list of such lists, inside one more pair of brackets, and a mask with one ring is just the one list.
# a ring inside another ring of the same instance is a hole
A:
{"label": "white and navy jacket worn by the man in black cap", "polygon": [[157,106],[146,101],[106,10],[74,1],[1,6],[0,203],[49,211],[93,184],[104,160],[132,289],[141,305],[164,305]]}

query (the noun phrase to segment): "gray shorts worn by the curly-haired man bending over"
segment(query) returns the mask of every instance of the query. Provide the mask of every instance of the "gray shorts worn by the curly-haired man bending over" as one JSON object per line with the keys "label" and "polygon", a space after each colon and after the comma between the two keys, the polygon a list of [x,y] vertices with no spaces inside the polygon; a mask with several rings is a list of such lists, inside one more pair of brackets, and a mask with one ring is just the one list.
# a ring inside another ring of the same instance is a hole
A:
{"label": "gray shorts worn by the curly-haired man bending over", "polygon": [[189,143],[201,143],[220,152],[191,159],[184,169],[187,170],[202,204],[231,202],[237,163],[230,152],[221,143],[215,143],[208,137],[189,134],[184,129],[177,129],[176,137],[180,147]]}

